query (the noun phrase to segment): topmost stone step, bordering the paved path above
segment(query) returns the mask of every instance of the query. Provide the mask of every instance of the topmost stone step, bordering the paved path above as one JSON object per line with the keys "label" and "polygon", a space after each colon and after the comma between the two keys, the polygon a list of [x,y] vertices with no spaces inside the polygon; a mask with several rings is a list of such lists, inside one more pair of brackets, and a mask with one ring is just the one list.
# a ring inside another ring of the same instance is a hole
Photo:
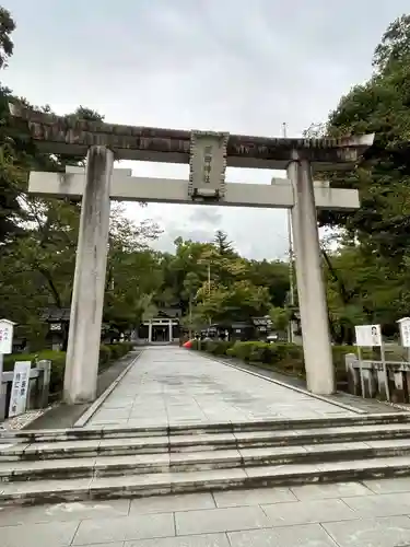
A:
{"label": "topmost stone step, bordering the paved path above", "polygon": [[20,430],[0,431],[0,446],[10,442],[54,442],[74,440],[101,440],[101,439],[128,439],[137,437],[169,437],[192,434],[237,433],[249,431],[284,431],[294,429],[320,429],[349,426],[372,426],[389,423],[410,423],[410,414],[406,411],[373,414],[373,415],[347,415],[333,418],[308,418],[308,419],[274,419],[256,420],[239,423],[194,423],[175,424],[169,427],[153,426],[149,428],[126,428],[124,426],[84,427],[71,429],[50,430]]}

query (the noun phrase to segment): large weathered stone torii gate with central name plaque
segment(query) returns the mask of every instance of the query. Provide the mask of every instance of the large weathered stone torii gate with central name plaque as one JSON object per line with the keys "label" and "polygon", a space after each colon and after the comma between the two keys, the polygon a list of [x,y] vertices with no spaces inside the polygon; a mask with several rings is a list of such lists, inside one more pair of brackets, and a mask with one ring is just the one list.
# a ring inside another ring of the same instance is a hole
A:
{"label": "large weathered stone torii gate with central name plaque", "polygon": [[[374,136],[273,139],[74,120],[10,105],[39,151],[86,155],[86,168],[30,176],[28,191],[82,198],[65,400],[94,400],[104,303],[110,199],[291,208],[308,389],[335,392],[335,374],[316,208],[356,209],[356,190],[314,183],[313,172],[349,170]],[[189,181],[133,177],[114,160],[189,163]],[[269,185],[225,182],[226,166],[286,170]]]}

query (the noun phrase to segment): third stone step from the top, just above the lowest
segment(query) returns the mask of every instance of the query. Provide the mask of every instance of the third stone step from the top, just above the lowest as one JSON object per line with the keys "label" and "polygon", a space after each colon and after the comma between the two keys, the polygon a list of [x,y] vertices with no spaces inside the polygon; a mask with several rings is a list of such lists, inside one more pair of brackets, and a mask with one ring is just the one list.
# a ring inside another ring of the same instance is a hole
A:
{"label": "third stone step from the top, just above the lowest", "polygon": [[[343,462],[410,456],[410,439],[0,463],[0,482],[67,480],[119,475],[202,472],[223,468]],[[410,458],[409,458],[410,459]]]}

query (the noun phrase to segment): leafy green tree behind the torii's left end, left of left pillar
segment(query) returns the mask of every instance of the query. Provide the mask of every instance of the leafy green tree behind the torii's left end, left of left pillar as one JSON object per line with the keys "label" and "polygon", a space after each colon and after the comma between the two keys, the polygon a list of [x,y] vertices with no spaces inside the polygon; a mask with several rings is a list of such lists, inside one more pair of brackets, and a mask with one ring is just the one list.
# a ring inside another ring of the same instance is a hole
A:
{"label": "leafy green tree behind the torii's left end, left of left pillar", "polygon": [[[62,170],[67,164],[81,163],[84,158],[66,156],[62,160],[38,153],[26,136],[16,132],[10,120],[7,103],[11,98],[5,90],[2,103],[5,123],[1,132],[4,147],[0,155],[0,185],[3,187],[0,230],[8,245],[2,247],[2,254],[15,256],[17,270],[35,272],[37,283],[43,287],[44,282],[48,304],[66,307],[71,300],[80,207],[68,199],[38,199],[27,196],[24,190],[32,168]],[[49,107],[43,109],[49,110]],[[74,115],[82,110],[89,115],[92,113],[79,108]],[[99,119],[98,115],[92,114]],[[19,237],[13,237],[16,233]],[[11,236],[9,240],[8,235]]]}

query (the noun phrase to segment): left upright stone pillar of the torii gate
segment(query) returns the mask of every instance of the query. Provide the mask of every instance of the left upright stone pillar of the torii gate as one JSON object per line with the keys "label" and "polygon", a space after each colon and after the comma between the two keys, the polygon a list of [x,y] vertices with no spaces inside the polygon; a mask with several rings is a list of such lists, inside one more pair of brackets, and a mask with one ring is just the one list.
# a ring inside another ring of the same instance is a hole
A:
{"label": "left upright stone pillar of the torii gate", "polygon": [[113,165],[112,150],[89,149],[66,359],[63,400],[68,404],[96,398]]}

